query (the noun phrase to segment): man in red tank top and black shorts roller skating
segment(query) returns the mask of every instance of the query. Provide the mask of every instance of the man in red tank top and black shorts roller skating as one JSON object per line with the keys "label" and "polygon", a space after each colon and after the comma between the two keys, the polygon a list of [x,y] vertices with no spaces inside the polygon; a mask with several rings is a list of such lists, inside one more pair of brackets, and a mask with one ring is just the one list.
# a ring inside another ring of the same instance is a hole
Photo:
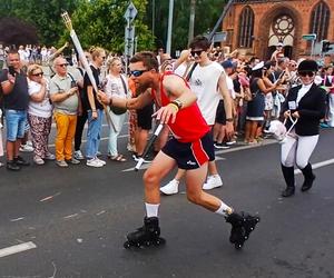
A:
{"label": "man in red tank top and black shorts roller skating", "polygon": [[160,205],[160,181],[176,166],[186,170],[186,191],[189,201],[213,212],[223,215],[232,225],[229,240],[242,248],[259,221],[258,217],[237,214],[220,199],[203,191],[208,161],[214,153],[209,127],[204,120],[196,96],[187,82],[173,73],[160,75],[158,61],[153,52],[139,52],[130,59],[130,75],[140,88],[146,89],[130,100],[109,98],[99,92],[100,101],[109,106],[138,109],[155,100],[159,110],[154,115],[160,123],[168,125],[173,139],[159,151],[144,173],[146,217],[144,226],[128,234],[125,247],[160,245],[158,208]]}

